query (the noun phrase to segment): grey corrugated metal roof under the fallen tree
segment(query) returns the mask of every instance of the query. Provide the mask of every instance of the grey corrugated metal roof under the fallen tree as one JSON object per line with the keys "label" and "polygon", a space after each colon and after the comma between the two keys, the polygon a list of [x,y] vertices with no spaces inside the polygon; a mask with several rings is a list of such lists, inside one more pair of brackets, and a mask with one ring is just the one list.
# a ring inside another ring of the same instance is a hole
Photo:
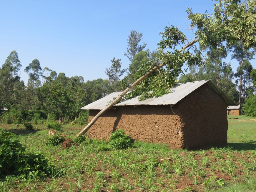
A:
{"label": "grey corrugated metal roof under the fallen tree", "polygon": [[[177,84],[171,89],[171,93],[163,95],[162,97],[153,97],[148,98],[143,101],[138,101],[139,96],[130,98],[127,100],[124,100],[120,103],[117,103],[114,106],[130,106],[130,105],[174,105],[178,103],[182,98],[186,97],[188,94],[190,94],[195,89],[199,88],[203,84],[206,84],[210,86],[213,91],[215,91],[217,94],[220,94],[220,96],[226,101],[227,105],[235,104],[232,99],[230,99],[228,96],[224,94],[223,91],[221,91],[214,83],[212,83],[211,80],[204,80],[204,81],[194,81],[194,82],[188,82],[188,83],[182,83]],[[121,92],[113,92],[112,94],[109,94],[97,101],[94,101],[93,103],[82,107],[81,109],[103,109],[106,107],[109,101],[111,101],[114,97],[117,97]]]}

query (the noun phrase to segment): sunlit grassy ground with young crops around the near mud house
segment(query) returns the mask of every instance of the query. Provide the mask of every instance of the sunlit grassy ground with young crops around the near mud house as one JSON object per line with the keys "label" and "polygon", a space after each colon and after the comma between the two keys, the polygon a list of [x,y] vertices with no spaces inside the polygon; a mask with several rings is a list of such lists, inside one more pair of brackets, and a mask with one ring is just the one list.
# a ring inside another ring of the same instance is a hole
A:
{"label": "sunlit grassy ground with young crops around the near mud house", "polygon": [[[228,116],[228,146],[209,150],[173,150],[165,144],[134,142],[124,150],[104,151],[107,141],[87,139],[63,149],[46,145],[45,125],[0,124],[30,152],[56,165],[46,178],[2,176],[0,191],[256,191],[256,118]],[[83,126],[64,125],[74,137]]]}

